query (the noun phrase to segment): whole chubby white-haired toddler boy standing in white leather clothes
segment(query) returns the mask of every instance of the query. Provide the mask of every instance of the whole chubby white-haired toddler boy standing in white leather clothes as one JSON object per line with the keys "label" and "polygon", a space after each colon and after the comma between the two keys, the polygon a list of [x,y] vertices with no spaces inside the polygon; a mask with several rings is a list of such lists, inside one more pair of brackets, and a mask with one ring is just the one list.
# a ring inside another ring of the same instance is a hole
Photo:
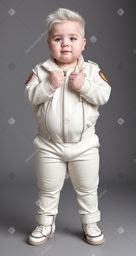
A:
{"label": "whole chubby white-haired toddler boy standing in white leather clothes", "polygon": [[54,236],[60,191],[68,170],[87,242],[101,244],[104,235],[97,226],[100,144],[95,124],[98,106],[108,101],[111,87],[99,66],[83,59],[85,20],[79,13],[58,8],[47,16],[46,23],[51,54],[32,69],[25,82],[25,97],[36,105],[33,116],[38,125],[33,142],[38,226],[28,241],[39,245]]}

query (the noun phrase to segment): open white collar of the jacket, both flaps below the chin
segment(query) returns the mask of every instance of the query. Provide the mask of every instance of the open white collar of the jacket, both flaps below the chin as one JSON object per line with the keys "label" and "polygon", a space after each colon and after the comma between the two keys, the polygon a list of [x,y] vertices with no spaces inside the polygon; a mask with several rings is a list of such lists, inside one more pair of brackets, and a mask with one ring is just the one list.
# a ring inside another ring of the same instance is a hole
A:
{"label": "open white collar of the jacket, both flaps below the chin", "polygon": [[[55,59],[52,54],[50,54],[49,58],[42,64],[44,68],[48,71],[58,70],[58,65],[55,62]],[[76,66],[75,71],[79,72],[82,68],[86,68],[88,63],[84,61],[82,54],[78,58],[78,65]]]}

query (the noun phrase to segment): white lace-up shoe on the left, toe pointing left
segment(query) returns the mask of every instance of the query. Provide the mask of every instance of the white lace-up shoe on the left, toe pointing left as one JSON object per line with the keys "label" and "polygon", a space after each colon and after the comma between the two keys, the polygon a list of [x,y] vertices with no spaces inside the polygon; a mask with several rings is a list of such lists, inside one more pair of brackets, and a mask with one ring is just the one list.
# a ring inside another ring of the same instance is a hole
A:
{"label": "white lace-up shoe on the left, toe pointing left", "polygon": [[39,245],[44,243],[47,238],[52,238],[55,233],[55,221],[53,225],[41,225],[38,226],[32,231],[29,236],[29,243],[33,245]]}

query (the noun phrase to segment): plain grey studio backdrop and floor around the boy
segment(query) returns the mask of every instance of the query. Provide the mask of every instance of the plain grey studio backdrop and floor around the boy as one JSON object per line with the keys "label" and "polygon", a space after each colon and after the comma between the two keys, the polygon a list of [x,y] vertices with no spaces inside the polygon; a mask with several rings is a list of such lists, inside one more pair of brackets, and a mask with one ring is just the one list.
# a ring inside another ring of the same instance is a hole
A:
{"label": "plain grey studio backdrop and floor around the boy", "polygon": [[[34,157],[27,163],[25,159],[34,152],[38,127],[32,116],[35,106],[25,99],[24,83],[35,65],[50,55],[47,34],[28,53],[25,50],[46,31],[45,18],[58,7],[76,10],[85,18],[83,58],[99,65],[112,88],[109,101],[98,108],[95,126],[100,143],[98,196],[107,190],[98,199],[101,221],[97,225],[105,236],[105,242],[98,246],[88,244],[83,235],[70,178],[65,179],[61,191],[54,237],[40,246],[27,242],[37,226],[39,190]],[[15,10],[12,16],[8,13],[11,8]],[[46,248],[48,255],[135,255],[135,9],[135,0],[0,1],[1,255],[45,255]],[[95,43],[92,36],[97,38]]]}

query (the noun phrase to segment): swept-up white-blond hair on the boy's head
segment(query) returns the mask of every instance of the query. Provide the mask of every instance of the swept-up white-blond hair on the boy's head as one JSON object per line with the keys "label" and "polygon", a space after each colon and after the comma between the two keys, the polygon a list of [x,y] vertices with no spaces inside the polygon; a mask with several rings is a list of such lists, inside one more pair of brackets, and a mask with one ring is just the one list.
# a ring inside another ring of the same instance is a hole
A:
{"label": "swept-up white-blond hair on the boy's head", "polygon": [[[45,18],[45,23],[48,29],[51,28],[55,23],[64,23],[66,20],[75,21],[79,24],[79,31],[82,38],[85,37],[85,19],[78,12],[66,8],[58,8],[53,13],[49,14]],[[48,37],[50,37],[51,29],[48,30]]]}

